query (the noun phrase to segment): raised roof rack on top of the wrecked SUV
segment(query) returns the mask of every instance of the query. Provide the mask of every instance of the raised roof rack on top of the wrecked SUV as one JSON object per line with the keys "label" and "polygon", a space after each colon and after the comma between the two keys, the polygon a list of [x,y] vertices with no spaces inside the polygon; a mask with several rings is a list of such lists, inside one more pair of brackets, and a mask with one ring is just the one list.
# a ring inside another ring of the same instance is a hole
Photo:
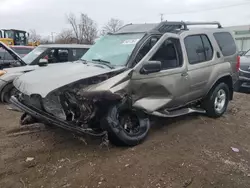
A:
{"label": "raised roof rack on top of the wrecked SUV", "polygon": [[218,28],[222,28],[219,22],[161,22],[155,29],[160,33],[165,33],[173,30],[188,30],[188,25],[217,25]]}

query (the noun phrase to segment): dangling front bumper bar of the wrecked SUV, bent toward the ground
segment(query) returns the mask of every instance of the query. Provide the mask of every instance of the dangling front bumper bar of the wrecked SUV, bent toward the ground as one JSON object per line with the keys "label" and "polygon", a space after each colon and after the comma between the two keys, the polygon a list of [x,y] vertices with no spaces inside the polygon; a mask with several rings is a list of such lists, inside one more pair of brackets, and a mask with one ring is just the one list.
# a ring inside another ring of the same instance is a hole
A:
{"label": "dangling front bumper bar of the wrecked SUV, bent toward the ground", "polygon": [[38,108],[26,106],[25,104],[20,102],[15,96],[11,97],[10,102],[16,107],[18,107],[19,109],[21,109],[22,111],[24,111],[25,113],[39,120],[39,122],[41,123],[52,124],[62,129],[66,129],[66,130],[69,130],[78,134],[90,134],[94,136],[103,136],[104,134],[106,134],[106,132],[99,133],[99,134],[91,133],[92,132],[91,129],[85,129],[79,126],[75,126],[74,124],[70,124],[66,121],[58,119],[57,117],[51,114],[48,114]]}

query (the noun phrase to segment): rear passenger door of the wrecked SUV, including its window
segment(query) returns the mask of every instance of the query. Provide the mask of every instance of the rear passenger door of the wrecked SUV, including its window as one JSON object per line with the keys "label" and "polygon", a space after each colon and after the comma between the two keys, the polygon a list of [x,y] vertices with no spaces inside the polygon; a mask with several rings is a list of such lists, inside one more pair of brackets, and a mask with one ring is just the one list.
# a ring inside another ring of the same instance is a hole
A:
{"label": "rear passenger door of the wrecked SUV, including its window", "polygon": [[213,66],[218,63],[218,59],[207,34],[187,35],[184,45],[190,78],[188,98],[193,101],[206,93]]}

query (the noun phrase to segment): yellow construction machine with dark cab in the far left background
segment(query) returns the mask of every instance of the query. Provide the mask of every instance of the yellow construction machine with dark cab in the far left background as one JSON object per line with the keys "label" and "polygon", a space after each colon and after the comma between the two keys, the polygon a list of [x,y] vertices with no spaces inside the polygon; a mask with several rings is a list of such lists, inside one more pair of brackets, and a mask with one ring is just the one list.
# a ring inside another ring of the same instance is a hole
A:
{"label": "yellow construction machine with dark cab in the far left background", "polygon": [[38,46],[40,42],[28,42],[29,33],[17,29],[1,29],[0,41],[7,45]]}

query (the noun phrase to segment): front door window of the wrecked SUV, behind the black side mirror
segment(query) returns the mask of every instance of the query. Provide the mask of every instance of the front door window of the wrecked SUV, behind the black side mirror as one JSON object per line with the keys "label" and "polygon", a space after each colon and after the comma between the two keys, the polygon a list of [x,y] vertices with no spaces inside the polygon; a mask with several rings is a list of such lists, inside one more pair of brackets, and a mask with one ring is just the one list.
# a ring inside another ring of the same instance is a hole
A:
{"label": "front door window of the wrecked SUV, behind the black side mirror", "polygon": [[181,67],[183,56],[180,40],[176,38],[168,38],[160,46],[150,61],[160,61],[162,70]]}

